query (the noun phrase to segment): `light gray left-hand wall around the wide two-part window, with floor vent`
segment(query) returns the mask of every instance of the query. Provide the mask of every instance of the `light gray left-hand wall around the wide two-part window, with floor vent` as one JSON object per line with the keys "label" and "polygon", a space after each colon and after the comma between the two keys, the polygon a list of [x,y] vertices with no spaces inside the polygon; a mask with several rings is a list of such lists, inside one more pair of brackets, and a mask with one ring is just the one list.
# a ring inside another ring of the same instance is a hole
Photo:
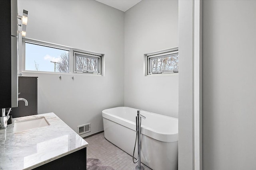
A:
{"label": "light gray left-hand wall around the wide two-part window, with floor vent", "polygon": [[[103,130],[106,108],[124,106],[124,12],[94,0],[18,0],[28,10],[26,37],[105,54],[105,75],[27,73],[38,76],[38,113],[54,112],[76,131]],[[74,76],[74,80],[72,80]]]}

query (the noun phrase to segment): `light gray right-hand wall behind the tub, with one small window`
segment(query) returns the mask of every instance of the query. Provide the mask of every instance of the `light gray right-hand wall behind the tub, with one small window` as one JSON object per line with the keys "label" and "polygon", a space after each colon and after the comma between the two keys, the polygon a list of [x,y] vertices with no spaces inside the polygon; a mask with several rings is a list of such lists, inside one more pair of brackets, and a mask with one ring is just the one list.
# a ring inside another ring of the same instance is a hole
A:
{"label": "light gray right-hand wall behind the tub, with one small window", "polygon": [[178,47],[178,0],[143,0],[130,8],[124,37],[124,105],[178,117],[178,74],[144,75],[144,54]]}

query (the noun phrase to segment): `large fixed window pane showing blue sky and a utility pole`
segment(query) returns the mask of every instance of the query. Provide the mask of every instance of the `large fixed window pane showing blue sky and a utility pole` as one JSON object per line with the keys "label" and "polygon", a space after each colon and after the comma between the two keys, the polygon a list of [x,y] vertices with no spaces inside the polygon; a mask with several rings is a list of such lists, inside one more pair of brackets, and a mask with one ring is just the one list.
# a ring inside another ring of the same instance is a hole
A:
{"label": "large fixed window pane showing blue sky and a utility pole", "polygon": [[25,70],[70,72],[70,51],[25,42]]}

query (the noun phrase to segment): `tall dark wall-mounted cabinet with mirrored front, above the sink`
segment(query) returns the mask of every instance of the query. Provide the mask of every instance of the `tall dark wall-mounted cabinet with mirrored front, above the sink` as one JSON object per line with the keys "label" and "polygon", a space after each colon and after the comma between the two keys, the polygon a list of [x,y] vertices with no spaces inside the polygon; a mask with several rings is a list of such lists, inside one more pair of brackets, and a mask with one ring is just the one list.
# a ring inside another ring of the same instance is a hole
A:
{"label": "tall dark wall-mounted cabinet with mirrored front, above the sink", "polygon": [[17,107],[17,0],[0,0],[0,108]]}

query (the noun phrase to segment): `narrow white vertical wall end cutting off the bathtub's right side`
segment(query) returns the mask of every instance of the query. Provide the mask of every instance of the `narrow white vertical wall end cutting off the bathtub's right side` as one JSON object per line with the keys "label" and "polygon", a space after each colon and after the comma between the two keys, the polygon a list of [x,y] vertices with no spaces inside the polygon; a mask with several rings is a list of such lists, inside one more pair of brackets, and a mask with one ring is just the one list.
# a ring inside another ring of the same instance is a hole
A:
{"label": "narrow white vertical wall end cutting off the bathtub's right side", "polygon": [[193,13],[194,1],[179,1],[179,170],[193,170]]}

